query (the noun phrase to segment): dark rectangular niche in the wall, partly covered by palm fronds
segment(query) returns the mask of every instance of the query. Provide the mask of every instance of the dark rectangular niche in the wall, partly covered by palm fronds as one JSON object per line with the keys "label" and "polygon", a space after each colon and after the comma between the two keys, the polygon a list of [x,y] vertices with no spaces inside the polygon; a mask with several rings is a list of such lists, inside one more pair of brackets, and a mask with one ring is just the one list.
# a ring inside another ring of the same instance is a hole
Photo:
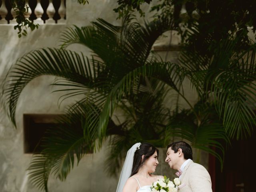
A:
{"label": "dark rectangular niche in the wall, partly covered by palm fronds", "polygon": [[56,124],[56,118],[62,114],[24,114],[24,153],[40,152],[40,141],[46,129]]}

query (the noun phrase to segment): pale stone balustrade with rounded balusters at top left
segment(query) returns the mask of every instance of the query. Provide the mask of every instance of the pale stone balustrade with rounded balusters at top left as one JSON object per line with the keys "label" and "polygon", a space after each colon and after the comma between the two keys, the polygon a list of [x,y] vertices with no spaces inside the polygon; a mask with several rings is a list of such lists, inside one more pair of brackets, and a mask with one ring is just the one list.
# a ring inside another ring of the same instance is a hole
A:
{"label": "pale stone balustrade with rounded balusters at top left", "polygon": [[[66,0],[25,0],[24,7],[25,17],[36,24],[65,23]],[[0,24],[17,24],[15,17],[10,0],[0,0]]]}

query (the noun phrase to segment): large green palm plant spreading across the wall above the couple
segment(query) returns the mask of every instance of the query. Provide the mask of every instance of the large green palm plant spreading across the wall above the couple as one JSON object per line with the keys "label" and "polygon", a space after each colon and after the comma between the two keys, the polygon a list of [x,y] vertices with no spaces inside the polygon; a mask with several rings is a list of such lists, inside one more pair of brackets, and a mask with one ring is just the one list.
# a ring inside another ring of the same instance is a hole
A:
{"label": "large green palm plant spreading across the wall above the couple", "polygon": [[[35,154],[30,163],[30,178],[38,188],[48,191],[50,174],[64,180],[74,165],[74,156],[79,162],[86,152],[99,150],[109,136],[110,173],[121,166],[120,159],[134,142],[148,141],[165,147],[174,136],[189,140],[195,148],[206,150],[222,161],[222,155],[208,146],[224,152],[218,140],[229,141],[224,130],[231,130],[231,136],[234,132],[241,133],[241,126],[254,117],[252,106],[247,103],[253,101],[253,97],[240,93],[247,90],[255,95],[251,91],[255,50],[250,49],[252,55],[244,58],[249,52],[232,52],[234,41],[230,41],[224,44],[228,50],[224,56],[222,52],[214,52],[210,57],[184,50],[180,64],[164,62],[151,54],[152,46],[163,32],[173,29],[170,17],[144,26],[134,22],[131,16],[123,19],[122,26],[98,19],[92,26],[68,28],[62,34],[60,48],[29,52],[10,69],[3,96],[6,112],[14,125],[20,93],[37,76],[60,77],[53,82],[59,88],[55,91],[64,92],[60,100],[83,96],[67,107],[56,131],[46,133],[45,149]],[[92,55],[86,57],[68,50],[67,47],[74,43],[90,48]],[[213,68],[217,64],[226,70],[233,69],[233,76],[239,74],[239,86],[235,84],[230,88],[223,70]],[[182,91],[184,78],[189,78],[198,91],[200,100],[194,106]],[[177,105],[171,111],[164,105],[170,89],[178,94],[177,99],[183,98],[189,104],[189,110],[179,110]],[[239,106],[235,106],[238,103]],[[239,111],[241,108],[243,110]],[[120,122],[113,121],[114,112],[118,110],[125,117]],[[230,118],[232,114],[236,116]],[[236,125],[240,127],[234,128]],[[111,166],[113,164],[115,167]]]}

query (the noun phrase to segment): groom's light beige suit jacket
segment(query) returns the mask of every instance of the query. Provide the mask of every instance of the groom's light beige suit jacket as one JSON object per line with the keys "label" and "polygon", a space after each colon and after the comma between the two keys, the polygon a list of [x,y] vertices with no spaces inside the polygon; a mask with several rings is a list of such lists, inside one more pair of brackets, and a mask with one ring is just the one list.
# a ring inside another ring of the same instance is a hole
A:
{"label": "groom's light beige suit jacket", "polygon": [[184,187],[179,192],[212,192],[211,177],[204,166],[192,160],[185,166],[180,176]]}

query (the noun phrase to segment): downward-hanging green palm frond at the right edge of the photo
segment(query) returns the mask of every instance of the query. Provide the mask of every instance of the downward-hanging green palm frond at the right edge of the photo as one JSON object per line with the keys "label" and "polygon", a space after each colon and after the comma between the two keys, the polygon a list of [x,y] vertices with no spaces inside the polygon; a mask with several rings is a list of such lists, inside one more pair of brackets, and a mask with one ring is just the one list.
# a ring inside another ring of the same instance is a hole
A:
{"label": "downward-hanging green palm frond at the right edge of the photo", "polygon": [[[224,72],[214,82],[216,108],[226,131],[233,138],[251,135],[255,122],[255,90],[252,80],[244,80],[247,74]],[[254,79],[254,78],[253,78]],[[221,90],[221,91],[220,91]]]}

